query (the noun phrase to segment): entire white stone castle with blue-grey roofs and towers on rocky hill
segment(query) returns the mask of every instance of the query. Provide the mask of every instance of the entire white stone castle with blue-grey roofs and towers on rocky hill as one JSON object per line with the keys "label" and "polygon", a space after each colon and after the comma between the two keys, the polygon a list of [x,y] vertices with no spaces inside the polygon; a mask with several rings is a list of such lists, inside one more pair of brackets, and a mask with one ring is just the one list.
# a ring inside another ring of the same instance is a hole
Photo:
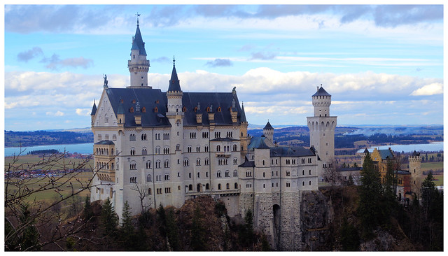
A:
{"label": "entire white stone castle with blue-grey roofs and towers on rocky hill", "polygon": [[323,87],[307,118],[310,148],[280,147],[267,122],[261,137],[248,136],[237,92],[183,92],[173,60],[167,92],[148,85],[149,60],[139,23],[128,61],[130,86],[104,90],[92,108],[94,177],[91,201],[110,198],[122,216],[158,206],[181,207],[208,195],[221,199],[230,217],[251,209],[255,229],[273,248],[300,250],[302,191],[318,190],[323,167],[334,156],[336,117]]}

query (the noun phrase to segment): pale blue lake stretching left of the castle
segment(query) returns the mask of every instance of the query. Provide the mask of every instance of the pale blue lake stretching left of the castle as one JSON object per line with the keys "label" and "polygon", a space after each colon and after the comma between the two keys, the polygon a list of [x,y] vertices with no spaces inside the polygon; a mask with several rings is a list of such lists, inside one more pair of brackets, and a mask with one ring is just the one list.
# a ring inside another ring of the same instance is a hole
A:
{"label": "pale blue lake stretching left of the castle", "polygon": [[[92,154],[93,152],[93,143],[80,143],[80,144],[60,144],[60,145],[34,145],[29,147],[22,147],[22,150],[25,152],[22,155],[27,155],[29,151],[33,150],[49,150],[55,149],[59,150],[59,152],[78,152],[79,154]],[[20,148],[5,148],[5,157],[9,157],[12,155],[18,155],[20,152]]]}

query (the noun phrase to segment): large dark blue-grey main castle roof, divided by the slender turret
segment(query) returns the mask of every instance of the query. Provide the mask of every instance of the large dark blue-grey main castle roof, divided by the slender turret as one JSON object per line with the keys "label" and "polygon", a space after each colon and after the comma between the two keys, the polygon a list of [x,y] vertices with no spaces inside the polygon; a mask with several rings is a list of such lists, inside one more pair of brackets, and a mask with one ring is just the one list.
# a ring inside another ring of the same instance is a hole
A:
{"label": "large dark blue-grey main castle roof, divided by the slender turret", "polygon": [[[125,127],[136,126],[134,115],[141,115],[142,127],[169,127],[167,113],[167,93],[160,89],[151,87],[141,88],[111,88],[106,90],[113,112],[125,114]],[[120,104],[123,99],[123,104]],[[232,99],[236,101],[237,116],[241,116],[238,97],[232,92],[183,92],[182,105],[186,107],[183,117],[184,126],[196,126],[196,114],[202,113],[202,125],[209,125],[207,107],[213,105],[215,125],[232,125]],[[134,100],[134,101],[133,101]],[[135,103],[133,103],[135,102]],[[135,112],[137,102],[140,105],[140,113]],[[200,104],[201,108],[195,112],[195,107]],[[130,112],[134,108],[134,113]],[[145,108],[145,111],[143,109]],[[157,112],[155,112],[157,108]],[[221,112],[218,111],[221,108]],[[239,124],[237,120],[237,124]]]}

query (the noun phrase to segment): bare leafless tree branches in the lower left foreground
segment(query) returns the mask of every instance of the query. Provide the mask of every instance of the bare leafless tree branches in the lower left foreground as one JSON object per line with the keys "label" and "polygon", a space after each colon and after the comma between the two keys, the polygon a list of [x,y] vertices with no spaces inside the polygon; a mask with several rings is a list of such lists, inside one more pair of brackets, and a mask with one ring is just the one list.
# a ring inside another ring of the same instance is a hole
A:
{"label": "bare leafless tree branches in the lower left foreground", "polygon": [[[5,250],[40,250],[54,245],[64,250],[66,239],[76,237],[85,229],[80,217],[68,220],[61,211],[64,203],[79,197],[92,188],[96,169],[89,165],[90,157],[73,162],[66,152],[43,156],[38,163],[20,164],[21,154],[13,156],[5,166]],[[92,178],[82,179],[80,173],[89,171]],[[38,193],[53,194],[53,200],[36,199]],[[75,200],[76,201],[76,200]],[[31,232],[32,243],[25,243]]]}

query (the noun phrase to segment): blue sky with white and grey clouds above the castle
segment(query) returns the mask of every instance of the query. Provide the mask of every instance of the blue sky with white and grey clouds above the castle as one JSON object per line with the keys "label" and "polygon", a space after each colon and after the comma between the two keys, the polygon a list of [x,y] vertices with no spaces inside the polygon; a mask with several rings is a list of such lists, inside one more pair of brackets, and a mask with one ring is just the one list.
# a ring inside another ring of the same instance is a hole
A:
{"label": "blue sky with white and grey clouds above the castle", "polygon": [[322,84],[339,125],[441,125],[443,8],[6,4],[4,126],[90,127],[103,74],[130,83],[137,12],[162,91],[175,56],[184,92],[236,86],[252,124],[305,125]]}

